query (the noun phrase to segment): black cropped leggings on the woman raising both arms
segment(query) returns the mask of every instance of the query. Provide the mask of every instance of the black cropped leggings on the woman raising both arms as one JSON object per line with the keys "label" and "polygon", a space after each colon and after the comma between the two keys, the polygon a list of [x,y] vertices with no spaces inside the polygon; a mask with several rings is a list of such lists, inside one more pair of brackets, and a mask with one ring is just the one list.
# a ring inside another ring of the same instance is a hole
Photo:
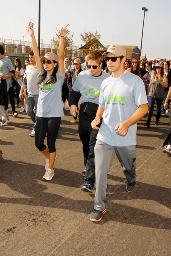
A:
{"label": "black cropped leggings on the woman raising both arms", "polygon": [[35,145],[40,151],[46,149],[44,139],[47,134],[47,146],[49,153],[56,151],[55,142],[61,125],[61,117],[37,117],[35,127]]}

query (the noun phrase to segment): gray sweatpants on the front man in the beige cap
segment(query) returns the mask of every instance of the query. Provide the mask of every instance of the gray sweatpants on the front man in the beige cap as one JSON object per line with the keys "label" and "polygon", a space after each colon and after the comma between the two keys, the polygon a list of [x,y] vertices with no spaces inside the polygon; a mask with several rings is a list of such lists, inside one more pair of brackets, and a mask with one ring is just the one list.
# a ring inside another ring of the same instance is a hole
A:
{"label": "gray sweatpants on the front man in the beige cap", "polygon": [[114,151],[116,152],[116,156],[123,167],[123,172],[127,181],[132,183],[136,180],[135,147],[135,145],[113,147],[100,140],[96,141],[94,148],[96,175],[94,209],[103,211],[106,207],[107,172],[109,170]]}

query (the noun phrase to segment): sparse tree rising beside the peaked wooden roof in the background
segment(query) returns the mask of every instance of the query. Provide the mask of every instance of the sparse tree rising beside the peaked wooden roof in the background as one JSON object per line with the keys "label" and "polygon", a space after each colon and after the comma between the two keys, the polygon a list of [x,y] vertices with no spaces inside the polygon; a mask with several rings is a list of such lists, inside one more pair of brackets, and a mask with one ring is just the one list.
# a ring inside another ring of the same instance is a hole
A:
{"label": "sparse tree rising beside the peaked wooden roof in the background", "polygon": [[98,50],[101,45],[99,44],[99,40],[101,38],[101,34],[99,31],[95,31],[94,33],[91,31],[85,32],[80,34],[81,41],[87,44],[87,49],[91,50]]}

